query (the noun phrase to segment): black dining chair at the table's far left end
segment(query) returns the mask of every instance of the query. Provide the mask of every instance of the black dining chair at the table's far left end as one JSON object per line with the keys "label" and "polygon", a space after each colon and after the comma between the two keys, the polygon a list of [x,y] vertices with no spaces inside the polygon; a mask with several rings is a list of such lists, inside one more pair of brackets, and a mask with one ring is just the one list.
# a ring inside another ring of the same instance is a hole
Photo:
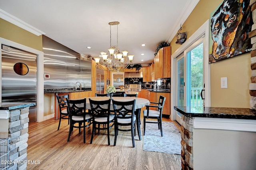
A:
{"label": "black dining chair at the table's far left end", "polygon": [[68,125],[69,125],[69,114],[68,114],[68,106],[67,106],[67,100],[66,100],[66,99],[69,99],[69,94],[64,96],[56,95],[56,98],[57,98],[59,110],[60,110],[60,118],[59,118],[60,120],[58,125],[58,130],[59,130],[61,119],[68,119]]}

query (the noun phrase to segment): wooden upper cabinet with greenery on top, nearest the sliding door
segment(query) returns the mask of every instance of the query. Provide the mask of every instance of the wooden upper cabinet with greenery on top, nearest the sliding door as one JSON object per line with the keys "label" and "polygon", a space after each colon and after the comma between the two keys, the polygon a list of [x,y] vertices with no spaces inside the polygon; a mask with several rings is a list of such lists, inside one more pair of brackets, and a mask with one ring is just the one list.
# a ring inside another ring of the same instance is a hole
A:
{"label": "wooden upper cabinet with greenery on top, nearest the sliding door", "polygon": [[160,49],[154,59],[154,79],[171,77],[171,47]]}

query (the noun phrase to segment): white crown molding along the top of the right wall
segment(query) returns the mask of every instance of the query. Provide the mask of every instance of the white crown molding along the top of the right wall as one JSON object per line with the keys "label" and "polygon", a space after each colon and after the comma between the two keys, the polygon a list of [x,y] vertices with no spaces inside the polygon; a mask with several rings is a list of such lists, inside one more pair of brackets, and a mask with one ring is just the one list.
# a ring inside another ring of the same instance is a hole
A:
{"label": "white crown molding along the top of the right wall", "polygon": [[200,0],[191,0],[186,4],[186,7],[184,10],[180,13],[180,16],[176,23],[174,23],[174,26],[172,27],[172,32],[168,36],[168,38],[165,40],[165,42],[170,43],[172,39],[175,37],[176,33],[180,29],[180,25],[183,25],[184,22],[187,20],[188,16],[191,14],[191,12],[194,10],[196,5],[198,4]]}

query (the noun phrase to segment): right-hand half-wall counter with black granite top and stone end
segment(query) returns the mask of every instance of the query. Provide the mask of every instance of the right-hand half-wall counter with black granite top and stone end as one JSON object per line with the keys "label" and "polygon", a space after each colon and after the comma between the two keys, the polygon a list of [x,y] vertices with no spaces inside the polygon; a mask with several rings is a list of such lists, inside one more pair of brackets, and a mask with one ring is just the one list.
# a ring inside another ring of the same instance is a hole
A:
{"label": "right-hand half-wall counter with black granite top and stone end", "polygon": [[182,169],[252,170],[256,167],[256,111],[174,106],[182,114]]}

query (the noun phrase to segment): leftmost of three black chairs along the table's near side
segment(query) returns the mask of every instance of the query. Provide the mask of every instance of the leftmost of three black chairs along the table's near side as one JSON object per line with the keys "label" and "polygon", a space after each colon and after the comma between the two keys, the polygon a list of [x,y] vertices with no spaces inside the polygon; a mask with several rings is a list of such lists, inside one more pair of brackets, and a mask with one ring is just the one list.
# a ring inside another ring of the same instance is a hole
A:
{"label": "leftmost of three black chairs along the table's near side", "polygon": [[70,128],[68,133],[68,141],[70,139],[70,135],[74,128],[78,128],[79,133],[81,132],[81,128],[83,128],[84,143],[85,143],[85,128],[92,124],[92,115],[86,112],[86,98],[79,99],[79,100],[67,99],[67,104],[68,104],[68,113],[70,116]]}

